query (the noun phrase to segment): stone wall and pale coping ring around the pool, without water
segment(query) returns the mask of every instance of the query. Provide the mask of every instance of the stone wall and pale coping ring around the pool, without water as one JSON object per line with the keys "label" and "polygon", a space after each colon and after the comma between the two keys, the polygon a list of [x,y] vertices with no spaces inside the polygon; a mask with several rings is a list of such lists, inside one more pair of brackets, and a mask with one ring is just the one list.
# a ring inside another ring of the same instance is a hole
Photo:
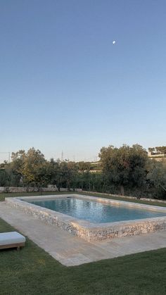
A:
{"label": "stone wall and pale coping ring around the pool, without water", "polygon": [[[53,211],[51,209],[36,206],[27,201],[32,200],[53,200],[64,197],[73,197],[79,199],[87,199],[89,201],[98,201],[109,203],[116,206],[125,206],[130,208],[141,208],[151,211],[165,213],[163,217],[143,218],[137,220],[125,220],[117,222],[93,223],[87,220],[80,220],[72,216]],[[63,230],[67,230],[71,234],[75,234],[87,241],[97,241],[104,239],[112,239],[115,237],[126,237],[136,234],[145,234],[155,231],[166,230],[166,208],[160,206],[146,205],[141,203],[132,203],[129,201],[119,201],[104,199],[96,196],[87,196],[80,194],[63,194],[63,195],[47,195],[47,196],[24,196],[6,198],[6,203],[13,208],[20,208],[27,214],[33,215],[35,218],[42,220],[51,225],[56,225]]]}

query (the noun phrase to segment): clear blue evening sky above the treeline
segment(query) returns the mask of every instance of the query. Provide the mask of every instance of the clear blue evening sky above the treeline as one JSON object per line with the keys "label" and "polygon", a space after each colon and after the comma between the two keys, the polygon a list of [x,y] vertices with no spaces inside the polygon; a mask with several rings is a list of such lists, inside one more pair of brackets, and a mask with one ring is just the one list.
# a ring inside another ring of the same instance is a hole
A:
{"label": "clear blue evening sky above the treeline", "polygon": [[165,0],[1,0],[0,151],[165,145],[165,29]]}

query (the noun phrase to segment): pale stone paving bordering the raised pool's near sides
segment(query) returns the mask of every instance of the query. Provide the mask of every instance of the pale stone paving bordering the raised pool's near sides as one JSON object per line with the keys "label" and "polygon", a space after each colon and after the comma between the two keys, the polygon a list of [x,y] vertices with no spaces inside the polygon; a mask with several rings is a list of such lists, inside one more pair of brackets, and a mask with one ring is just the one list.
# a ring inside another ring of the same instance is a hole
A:
{"label": "pale stone paving bordering the raised pool's near sides", "polygon": [[66,266],[166,247],[166,232],[88,242],[0,202],[0,218]]}

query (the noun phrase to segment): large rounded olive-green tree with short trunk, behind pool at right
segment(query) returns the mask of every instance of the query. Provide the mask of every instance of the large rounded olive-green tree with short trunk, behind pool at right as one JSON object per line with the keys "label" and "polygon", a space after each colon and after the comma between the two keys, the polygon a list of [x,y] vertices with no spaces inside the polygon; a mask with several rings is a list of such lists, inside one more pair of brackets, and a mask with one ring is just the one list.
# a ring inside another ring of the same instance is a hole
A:
{"label": "large rounded olive-green tree with short trunk, behind pool at right", "polygon": [[146,163],[148,154],[139,144],[103,147],[99,153],[103,175],[109,184],[120,187],[125,194],[125,187],[141,187],[146,182]]}

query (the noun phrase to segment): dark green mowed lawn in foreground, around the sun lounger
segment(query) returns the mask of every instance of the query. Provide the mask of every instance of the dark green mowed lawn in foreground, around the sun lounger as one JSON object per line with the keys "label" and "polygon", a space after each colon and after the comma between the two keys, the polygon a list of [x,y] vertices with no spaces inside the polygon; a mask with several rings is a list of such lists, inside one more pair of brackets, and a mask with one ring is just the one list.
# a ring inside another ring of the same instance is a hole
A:
{"label": "dark green mowed lawn in foreground, around the sun lounger", "polygon": [[[14,230],[0,219],[0,232]],[[27,239],[0,251],[0,294],[166,294],[166,249],[65,267]]]}

